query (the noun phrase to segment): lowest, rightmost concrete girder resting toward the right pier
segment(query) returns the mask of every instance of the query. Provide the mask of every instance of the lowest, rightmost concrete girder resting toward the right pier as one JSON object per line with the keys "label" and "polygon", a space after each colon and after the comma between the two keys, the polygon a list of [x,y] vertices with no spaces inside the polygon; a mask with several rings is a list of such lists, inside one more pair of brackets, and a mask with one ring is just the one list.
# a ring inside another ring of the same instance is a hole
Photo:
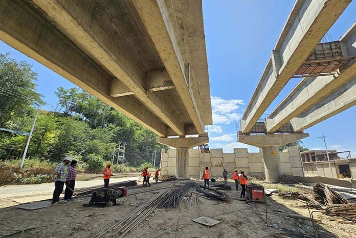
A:
{"label": "lowest, rightmost concrete girder resting toward the right pier", "polygon": [[356,77],[325,99],[315,103],[304,113],[291,120],[295,131],[303,131],[327,118],[356,105]]}

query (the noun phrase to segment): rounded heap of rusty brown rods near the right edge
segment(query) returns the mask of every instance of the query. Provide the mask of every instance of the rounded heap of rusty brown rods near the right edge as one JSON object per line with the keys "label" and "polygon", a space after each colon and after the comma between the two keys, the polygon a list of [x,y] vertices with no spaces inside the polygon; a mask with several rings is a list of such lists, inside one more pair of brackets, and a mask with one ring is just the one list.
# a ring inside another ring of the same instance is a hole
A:
{"label": "rounded heap of rusty brown rods near the right edge", "polygon": [[314,198],[323,205],[347,204],[348,201],[340,194],[332,191],[324,183],[318,182],[313,187]]}

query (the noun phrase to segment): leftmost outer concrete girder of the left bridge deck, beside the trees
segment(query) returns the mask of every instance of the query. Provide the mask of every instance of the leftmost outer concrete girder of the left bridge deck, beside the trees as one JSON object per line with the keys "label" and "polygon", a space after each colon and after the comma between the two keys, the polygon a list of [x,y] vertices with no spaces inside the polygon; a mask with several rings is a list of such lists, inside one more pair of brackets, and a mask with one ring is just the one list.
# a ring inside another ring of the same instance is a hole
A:
{"label": "leftmost outer concrete girder of the left bridge deck, beside the trees", "polygon": [[110,100],[108,92],[112,77],[25,2],[0,1],[0,39],[159,136],[167,135],[167,126],[136,98],[127,96]]}

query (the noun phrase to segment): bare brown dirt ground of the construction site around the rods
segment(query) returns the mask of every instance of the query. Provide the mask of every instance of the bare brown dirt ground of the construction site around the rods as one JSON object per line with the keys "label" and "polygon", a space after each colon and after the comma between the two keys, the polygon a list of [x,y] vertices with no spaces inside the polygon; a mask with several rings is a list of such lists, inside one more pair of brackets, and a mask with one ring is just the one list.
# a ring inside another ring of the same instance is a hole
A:
{"label": "bare brown dirt ground of the construction site around the rods", "polygon": [[[0,233],[3,235],[14,230],[25,230],[12,237],[97,237],[151,197],[173,186],[181,186],[187,181],[189,180],[173,180],[157,184],[152,181],[151,187],[143,187],[140,182],[128,190],[127,196],[118,199],[117,205],[110,207],[84,206],[90,200],[90,196],[84,196],[37,210],[24,210],[16,206],[2,208]],[[234,187],[232,182],[229,184]],[[272,188],[274,184],[268,186]],[[281,189],[280,186],[276,184],[276,188]],[[286,190],[289,188],[284,185],[283,187]],[[157,190],[158,188],[164,189]],[[235,190],[223,192],[237,198],[240,189],[238,192]],[[132,193],[135,195],[130,195]],[[155,209],[125,237],[268,237],[282,232],[280,229],[299,230],[312,237],[314,235],[310,221],[288,217],[293,214],[309,217],[308,209],[303,206],[305,204],[297,200],[272,195],[266,198],[265,206],[261,203],[247,204],[246,201],[237,199],[231,199],[230,202],[199,199],[203,203],[199,207],[182,205],[180,209]],[[267,222],[265,207],[268,211]],[[202,216],[218,220],[220,223],[209,228],[192,221]],[[336,233],[339,237],[356,237],[356,225],[340,224],[320,213],[315,216],[322,223],[316,224],[319,231],[324,231],[325,234],[327,231]],[[32,227],[37,229],[26,231]],[[112,233],[104,235],[109,236],[112,236]]]}

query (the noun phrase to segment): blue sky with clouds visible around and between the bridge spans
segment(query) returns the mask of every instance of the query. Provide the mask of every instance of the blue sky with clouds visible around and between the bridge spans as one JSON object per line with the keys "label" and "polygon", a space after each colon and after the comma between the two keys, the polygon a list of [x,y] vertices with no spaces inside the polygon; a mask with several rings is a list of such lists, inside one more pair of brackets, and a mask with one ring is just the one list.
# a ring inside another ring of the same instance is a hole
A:
{"label": "blue sky with clouds visible around and between the bridge spans", "polygon": [[[278,36],[294,4],[294,0],[203,1],[204,24],[209,64],[210,90],[214,125],[209,127],[211,148],[258,148],[236,141],[235,120],[239,120],[256,88]],[[339,39],[356,20],[353,1],[330,29],[332,40]],[[54,91],[60,86],[74,85],[52,70],[26,57],[0,41],[0,52],[10,53],[16,60],[25,60],[38,73],[38,91],[53,110],[57,103]],[[265,112],[269,114],[298,83],[293,79]],[[310,137],[303,140],[309,149],[323,149],[318,138],[327,137],[329,148],[350,150],[356,157],[356,108],[348,109],[306,130]]]}

